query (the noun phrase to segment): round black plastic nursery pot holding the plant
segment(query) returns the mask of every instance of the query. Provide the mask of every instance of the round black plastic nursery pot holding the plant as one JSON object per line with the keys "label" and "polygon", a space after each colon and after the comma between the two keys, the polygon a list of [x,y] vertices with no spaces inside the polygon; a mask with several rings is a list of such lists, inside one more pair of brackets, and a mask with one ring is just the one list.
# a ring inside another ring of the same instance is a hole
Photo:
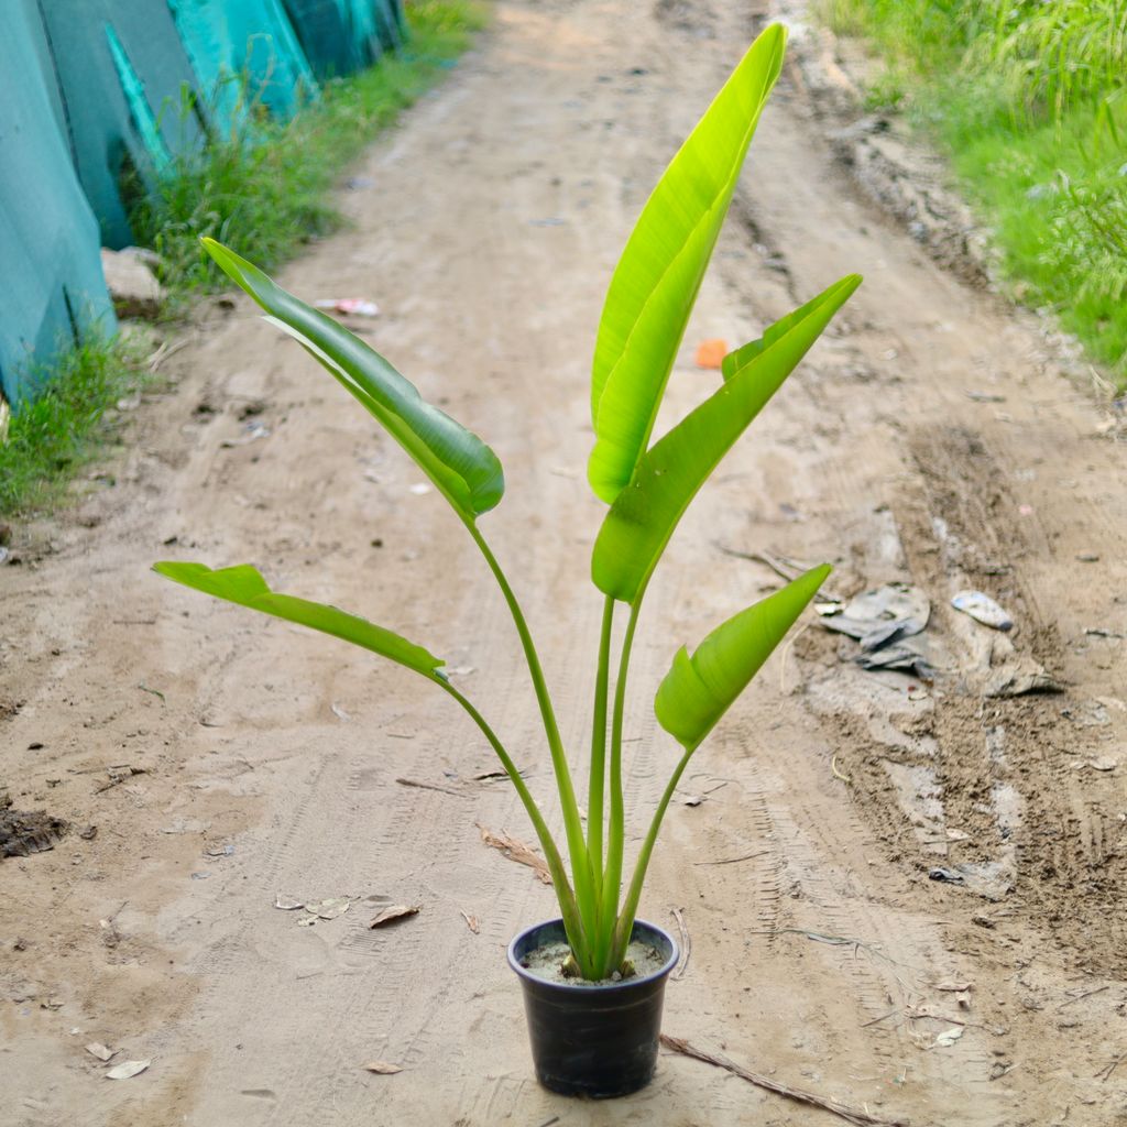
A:
{"label": "round black plastic nursery pot holding the plant", "polygon": [[544,1088],[609,1099],[637,1092],[653,1079],[665,980],[676,966],[677,944],[641,920],[630,938],[660,952],[662,969],[605,986],[545,982],[522,966],[536,948],[567,942],[562,920],[536,924],[509,943],[508,965],[524,987],[532,1059]]}

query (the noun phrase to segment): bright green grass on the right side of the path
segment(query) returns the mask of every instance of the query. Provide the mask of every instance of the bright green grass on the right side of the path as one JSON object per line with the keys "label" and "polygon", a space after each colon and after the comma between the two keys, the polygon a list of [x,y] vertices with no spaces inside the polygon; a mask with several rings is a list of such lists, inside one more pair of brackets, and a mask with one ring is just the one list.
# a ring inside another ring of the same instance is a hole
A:
{"label": "bright green grass on the right side of the path", "polygon": [[1127,3],[824,0],[885,61],[992,229],[1013,295],[1049,308],[1127,387]]}

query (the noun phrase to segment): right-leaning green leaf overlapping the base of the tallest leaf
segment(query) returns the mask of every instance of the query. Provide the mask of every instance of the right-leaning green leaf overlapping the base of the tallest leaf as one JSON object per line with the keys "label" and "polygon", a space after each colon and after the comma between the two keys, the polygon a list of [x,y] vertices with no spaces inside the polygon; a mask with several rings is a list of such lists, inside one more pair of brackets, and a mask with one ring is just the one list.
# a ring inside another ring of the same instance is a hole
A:
{"label": "right-leaning green leaf overlapping the base of the tallest leaf", "polygon": [[600,591],[627,603],[645,591],[698,490],[860,284],[848,275],[730,353],[727,382],[642,454],[595,541]]}

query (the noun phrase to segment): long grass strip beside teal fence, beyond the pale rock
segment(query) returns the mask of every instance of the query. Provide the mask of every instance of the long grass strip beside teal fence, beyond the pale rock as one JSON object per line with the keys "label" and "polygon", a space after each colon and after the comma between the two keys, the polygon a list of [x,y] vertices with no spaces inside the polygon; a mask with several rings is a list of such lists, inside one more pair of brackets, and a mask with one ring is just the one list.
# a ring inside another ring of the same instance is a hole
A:
{"label": "long grass strip beside teal fence, beyond the pale rock", "polygon": [[410,35],[398,53],[326,83],[322,97],[289,122],[251,106],[250,127],[175,158],[156,195],[141,197],[131,214],[134,237],[161,256],[174,311],[228,284],[201,251],[202,236],[254,248],[255,260],[272,269],[339,228],[329,194],[341,171],[438,81],[485,24],[472,0],[409,0],[406,14]]}

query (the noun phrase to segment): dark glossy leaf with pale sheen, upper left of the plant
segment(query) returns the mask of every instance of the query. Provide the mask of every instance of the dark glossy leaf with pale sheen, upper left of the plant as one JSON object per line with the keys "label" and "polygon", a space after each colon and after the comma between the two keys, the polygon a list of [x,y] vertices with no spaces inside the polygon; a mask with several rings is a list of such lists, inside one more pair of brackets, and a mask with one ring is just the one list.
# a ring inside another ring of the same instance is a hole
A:
{"label": "dark glossy leaf with pale sheen, upper left of the plant", "polygon": [[505,491],[500,462],[476,434],[423,399],[415,384],[331,317],[294,298],[214,239],[204,239],[203,245],[270,314],[267,320],[300,340],[390,432],[465,520],[500,500]]}

